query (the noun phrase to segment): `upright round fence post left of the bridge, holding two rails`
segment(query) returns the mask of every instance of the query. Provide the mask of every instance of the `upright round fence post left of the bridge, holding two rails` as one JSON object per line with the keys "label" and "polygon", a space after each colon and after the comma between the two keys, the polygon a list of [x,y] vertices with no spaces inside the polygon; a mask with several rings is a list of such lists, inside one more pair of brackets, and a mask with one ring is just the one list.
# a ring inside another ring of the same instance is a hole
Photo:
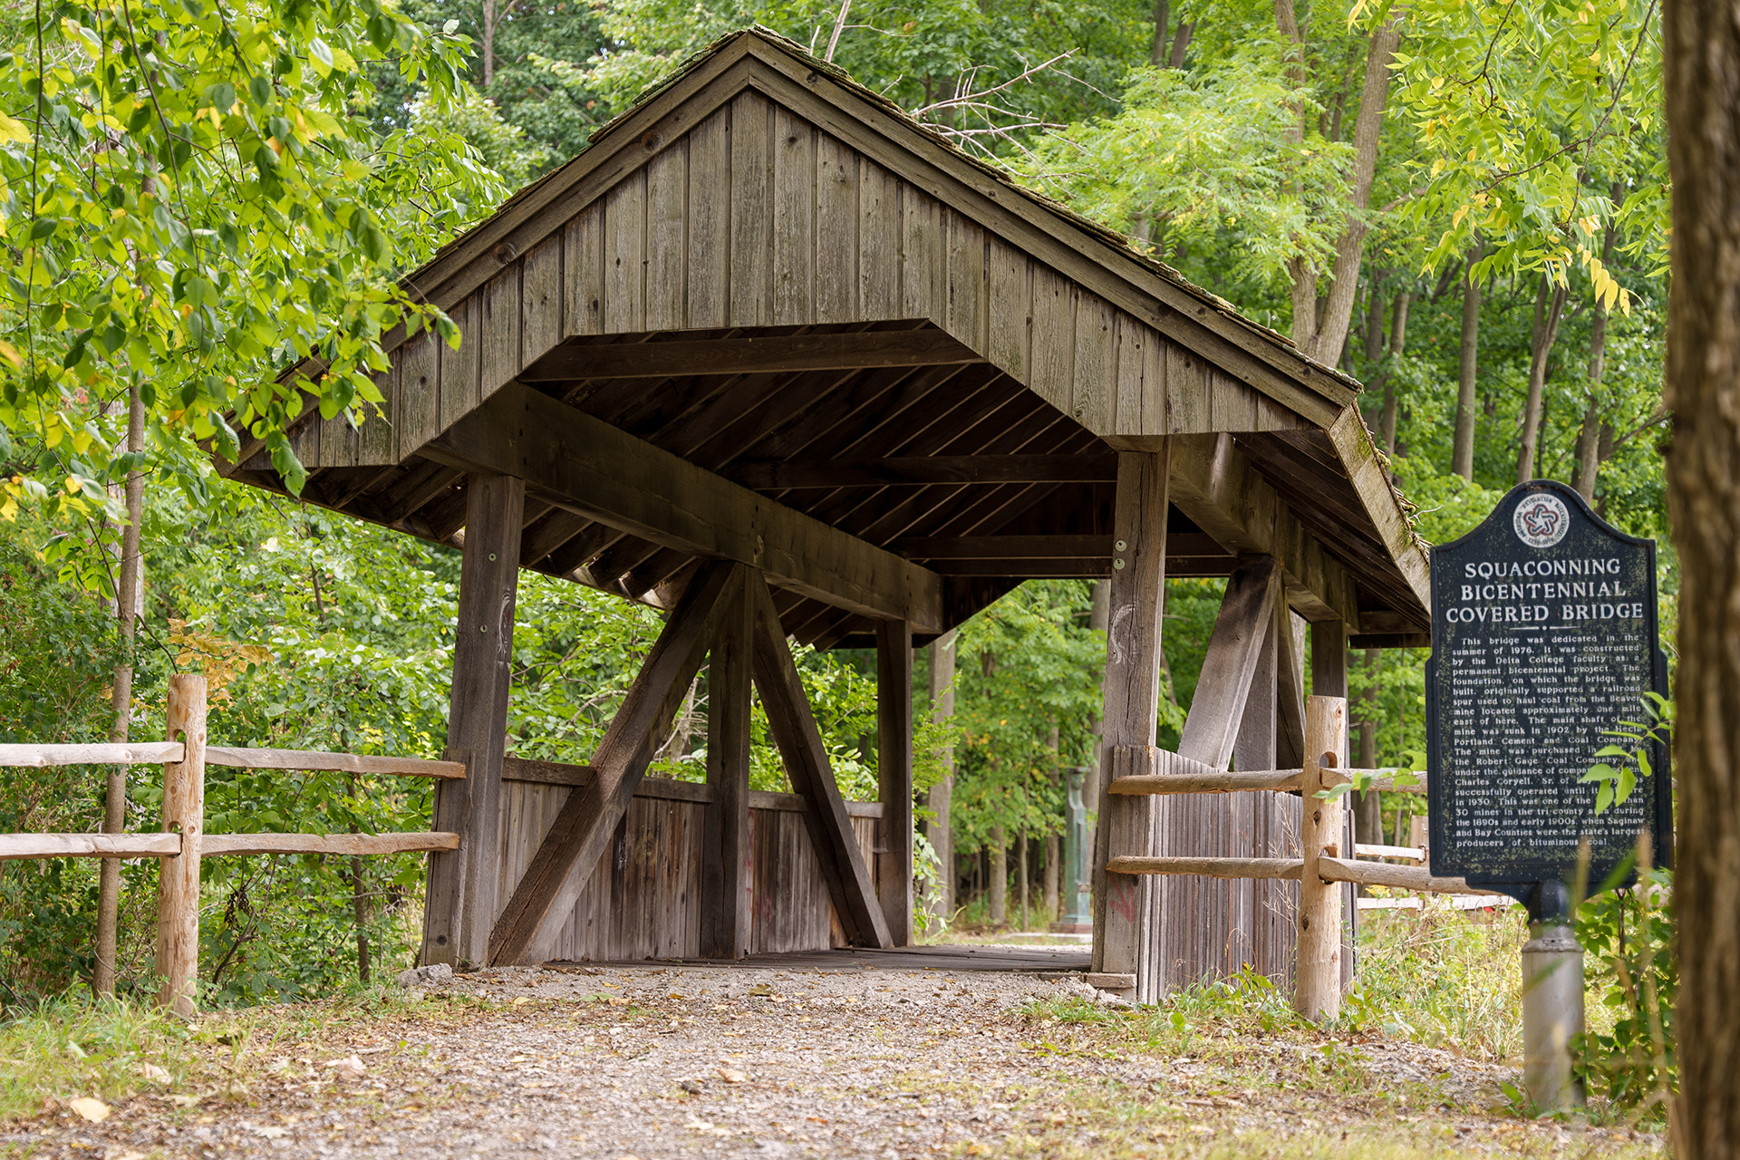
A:
{"label": "upright round fence post left of the bridge, holding two rails", "polygon": [[164,831],[181,835],[181,854],[158,859],[157,1002],[188,1017],[200,981],[200,835],[205,831],[205,678],[169,678],[169,741],[186,748],[164,765]]}

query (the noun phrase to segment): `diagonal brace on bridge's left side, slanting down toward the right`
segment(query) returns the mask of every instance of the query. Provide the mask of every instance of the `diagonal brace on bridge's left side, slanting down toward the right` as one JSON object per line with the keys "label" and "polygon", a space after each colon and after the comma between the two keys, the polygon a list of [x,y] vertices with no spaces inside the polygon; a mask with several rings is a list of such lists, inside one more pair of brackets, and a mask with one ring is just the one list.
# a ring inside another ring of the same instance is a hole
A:
{"label": "diagonal brace on bridge's left side, slanting down toward the right", "polygon": [[891,937],[882,904],[875,896],[875,882],[865,866],[858,835],[853,833],[846,800],[833,779],[828,750],[821,744],[821,730],[804,699],[804,682],[792,661],[792,649],[780,626],[780,612],[773,607],[767,584],[755,577],[755,689],[767,713],[767,732],[780,746],[785,774],[792,788],[804,797],[804,826],[809,843],[828,883],[828,897],[840,920],[840,930],[853,946],[887,948]]}

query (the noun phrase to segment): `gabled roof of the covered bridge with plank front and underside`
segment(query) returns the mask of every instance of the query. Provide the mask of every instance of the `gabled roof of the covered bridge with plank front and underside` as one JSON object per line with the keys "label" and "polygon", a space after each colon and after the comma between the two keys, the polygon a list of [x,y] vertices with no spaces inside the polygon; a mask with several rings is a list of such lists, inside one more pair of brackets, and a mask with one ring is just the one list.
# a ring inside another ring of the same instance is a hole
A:
{"label": "gabled roof of the covered bridge with plank front and underside", "polygon": [[[1187,570],[1274,553],[1307,616],[1368,621],[1373,643],[1425,630],[1423,548],[1354,405],[1357,383],[766,30],[691,59],[407,283],[466,341],[445,351],[392,336],[385,417],[296,428],[317,503],[452,537],[456,426],[534,390],[755,503],[943,570],[959,619],[1021,574],[1105,565],[1082,537],[1108,532],[1108,480],[1082,464],[1176,435],[1176,530],[1202,537],[1195,557],[1176,553],[1202,560]],[[666,370],[649,377],[652,365]],[[842,417],[821,424],[830,409]],[[710,442],[698,424],[738,442]],[[1053,475],[820,496],[814,482],[790,485],[842,457],[861,470],[931,457],[898,470],[947,477],[941,461],[962,456],[1016,456],[1032,461],[1021,471]],[[1081,463],[1065,470],[1060,456]],[[235,473],[280,485],[258,445]],[[586,555],[607,537],[560,539],[567,530],[529,527],[532,544],[557,550],[524,563],[640,597],[691,562],[670,543],[639,560],[611,546]],[[1025,536],[1023,550],[1075,536],[1086,555],[1021,572],[1020,560],[997,570],[957,553],[945,567],[927,553],[950,536]],[[621,574],[595,570],[628,560]],[[823,643],[863,630],[811,621],[806,638]]]}

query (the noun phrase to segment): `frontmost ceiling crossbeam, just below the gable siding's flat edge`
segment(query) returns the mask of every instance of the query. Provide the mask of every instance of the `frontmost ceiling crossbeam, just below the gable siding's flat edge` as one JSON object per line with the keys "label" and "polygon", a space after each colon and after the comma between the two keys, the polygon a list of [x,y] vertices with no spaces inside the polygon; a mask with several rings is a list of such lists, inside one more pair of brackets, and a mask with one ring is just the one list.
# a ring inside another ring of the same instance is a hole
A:
{"label": "frontmost ceiling crossbeam, just below the gable siding's flat edge", "polygon": [[741,339],[670,339],[559,346],[520,372],[522,383],[672,379],[691,374],[767,374],[934,367],[985,362],[947,330],[780,334]]}

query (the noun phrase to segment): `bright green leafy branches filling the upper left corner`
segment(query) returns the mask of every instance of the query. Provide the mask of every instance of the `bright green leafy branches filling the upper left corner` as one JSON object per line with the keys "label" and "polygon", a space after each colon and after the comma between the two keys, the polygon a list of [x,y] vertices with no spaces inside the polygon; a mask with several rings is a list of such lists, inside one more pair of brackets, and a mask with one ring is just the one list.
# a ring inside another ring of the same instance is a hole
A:
{"label": "bright green leafy branches filling the upper left corner", "polygon": [[501,184],[433,120],[374,132],[357,108],[386,63],[447,108],[459,42],[378,0],[70,2],[5,31],[0,517],[110,506],[137,466],[117,447],[130,384],[151,457],[235,454],[244,428],[296,487],[282,430],[304,403],[275,370],[318,355],[332,416],[379,402],[383,332],[456,337],[393,275]]}

